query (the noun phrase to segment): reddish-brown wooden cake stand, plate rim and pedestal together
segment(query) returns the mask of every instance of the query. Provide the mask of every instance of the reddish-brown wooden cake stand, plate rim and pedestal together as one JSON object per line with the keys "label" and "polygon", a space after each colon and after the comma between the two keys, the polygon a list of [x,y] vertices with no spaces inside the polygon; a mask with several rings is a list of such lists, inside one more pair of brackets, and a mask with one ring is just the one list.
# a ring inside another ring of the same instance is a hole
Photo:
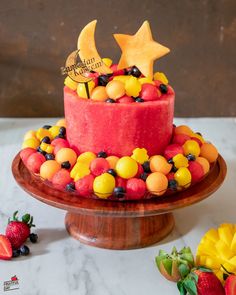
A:
{"label": "reddish-brown wooden cake stand, plate rim and pedestal together", "polygon": [[223,183],[226,164],[219,156],[210,173],[198,184],[167,197],[116,202],[78,197],[45,184],[33,175],[17,154],[12,172],[17,183],[34,198],[67,211],[65,226],[84,244],[107,249],[134,249],[154,244],[174,228],[172,211],[197,203]]}

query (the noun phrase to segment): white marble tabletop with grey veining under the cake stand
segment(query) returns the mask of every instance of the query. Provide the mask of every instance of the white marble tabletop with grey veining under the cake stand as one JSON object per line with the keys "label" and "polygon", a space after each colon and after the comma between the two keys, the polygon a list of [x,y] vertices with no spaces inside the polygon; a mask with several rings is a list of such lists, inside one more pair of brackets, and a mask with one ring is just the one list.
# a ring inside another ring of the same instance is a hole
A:
{"label": "white marble tabletop with grey veining under the cake stand", "polygon": [[175,284],[161,277],[154,258],[159,249],[170,251],[173,245],[189,245],[195,252],[210,227],[236,223],[236,119],[175,119],[177,125],[189,125],[218,147],[228,165],[226,180],[207,200],[175,211],[175,229],[161,243],[129,251],[97,249],[69,237],[64,228],[65,212],[33,199],[14,181],[11,162],[24,133],[55,122],[52,118],[0,119],[0,233],[18,209],[34,216],[40,239],[38,244],[29,244],[30,256],[0,261],[0,294],[6,293],[3,282],[14,275],[19,289],[10,293],[17,295],[178,294]]}

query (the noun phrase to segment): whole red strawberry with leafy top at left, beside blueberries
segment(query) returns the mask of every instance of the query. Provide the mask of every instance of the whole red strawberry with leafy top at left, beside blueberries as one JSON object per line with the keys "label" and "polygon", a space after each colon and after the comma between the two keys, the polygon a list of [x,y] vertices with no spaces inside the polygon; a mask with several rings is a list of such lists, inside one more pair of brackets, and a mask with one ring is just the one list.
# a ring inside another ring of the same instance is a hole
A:
{"label": "whole red strawberry with leafy top at left, beside blueberries", "polygon": [[33,224],[33,216],[25,214],[22,216],[21,221],[17,218],[16,211],[13,214],[13,220],[8,220],[6,228],[6,236],[10,240],[13,249],[19,249],[30,235],[30,228],[35,226]]}

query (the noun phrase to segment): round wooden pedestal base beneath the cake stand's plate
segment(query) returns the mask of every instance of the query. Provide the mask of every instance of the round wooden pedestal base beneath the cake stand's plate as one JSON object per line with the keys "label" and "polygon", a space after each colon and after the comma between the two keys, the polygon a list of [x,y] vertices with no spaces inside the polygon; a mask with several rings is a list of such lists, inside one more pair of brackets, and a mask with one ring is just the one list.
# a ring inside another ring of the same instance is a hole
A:
{"label": "round wooden pedestal base beneath the cake stand's plate", "polygon": [[174,227],[172,213],[147,217],[82,215],[68,212],[65,225],[80,242],[107,249],[143,248],[162,240]]}

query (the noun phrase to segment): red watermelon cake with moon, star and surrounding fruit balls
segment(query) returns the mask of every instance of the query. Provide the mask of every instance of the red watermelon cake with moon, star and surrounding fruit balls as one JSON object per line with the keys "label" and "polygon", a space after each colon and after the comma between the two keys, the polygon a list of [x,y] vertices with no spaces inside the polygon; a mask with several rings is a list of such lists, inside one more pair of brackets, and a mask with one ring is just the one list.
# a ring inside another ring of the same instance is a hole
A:
{"label": "red watermelon cake with moon, star and surrounding fruit balls", "polygon": [[187,189],[209,172],[217,149],[188,126],[174,126],[175,93],[153,63],[169,49],[147,21],[115,34],[118,64],[101,59],[96,21],[79,35],[62,68],[65,119],[30,130],[21,159],[42,181],[74,197],[140,200]]}

